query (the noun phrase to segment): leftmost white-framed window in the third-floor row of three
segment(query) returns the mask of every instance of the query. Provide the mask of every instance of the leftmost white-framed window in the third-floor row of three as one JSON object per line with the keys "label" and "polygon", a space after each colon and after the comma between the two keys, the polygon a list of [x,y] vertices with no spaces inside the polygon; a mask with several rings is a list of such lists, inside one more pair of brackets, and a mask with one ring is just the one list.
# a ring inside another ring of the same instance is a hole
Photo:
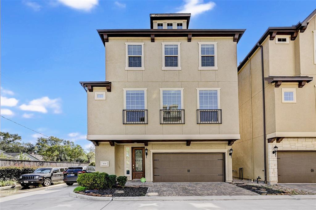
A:
{"label": "leftmost white-framed window in the third-floor row of three", "polygon": [[125,43],[126,60],[125,70],[145,70],[144,67],[144,43]]}

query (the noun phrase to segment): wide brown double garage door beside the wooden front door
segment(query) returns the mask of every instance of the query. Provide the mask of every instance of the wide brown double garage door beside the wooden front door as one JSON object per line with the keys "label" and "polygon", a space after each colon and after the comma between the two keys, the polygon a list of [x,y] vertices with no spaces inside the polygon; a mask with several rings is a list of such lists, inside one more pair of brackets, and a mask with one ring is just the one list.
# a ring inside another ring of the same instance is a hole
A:
{"label": "wide brown double garage door beside the wooden front door", "polygon": [[154,182],[223,182],[223,153],[154,153]]}

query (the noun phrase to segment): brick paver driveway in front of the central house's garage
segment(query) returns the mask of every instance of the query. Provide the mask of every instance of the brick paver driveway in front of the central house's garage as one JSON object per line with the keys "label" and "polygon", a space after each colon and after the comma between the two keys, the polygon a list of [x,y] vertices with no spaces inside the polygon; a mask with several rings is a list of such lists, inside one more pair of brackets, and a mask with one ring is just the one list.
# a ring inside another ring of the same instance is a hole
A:
{"label": "brick paver driveway in front of the central house's garage", "polygon": [[[139,180],[128,181],[125,186],[143,186]],[[207,196],[207,195],[258,195],[252,191],[226,182],[146,182],[147,196]]]}

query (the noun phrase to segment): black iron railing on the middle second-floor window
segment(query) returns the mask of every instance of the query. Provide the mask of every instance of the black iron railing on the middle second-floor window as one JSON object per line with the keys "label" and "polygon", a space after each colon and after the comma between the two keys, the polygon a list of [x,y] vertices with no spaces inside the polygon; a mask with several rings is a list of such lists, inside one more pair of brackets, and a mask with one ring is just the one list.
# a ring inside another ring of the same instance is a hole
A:
{"label": "black iron railing on the middle second-floor window", "polygon": [[160,109],[160,124],[184,123],[184,109]]}

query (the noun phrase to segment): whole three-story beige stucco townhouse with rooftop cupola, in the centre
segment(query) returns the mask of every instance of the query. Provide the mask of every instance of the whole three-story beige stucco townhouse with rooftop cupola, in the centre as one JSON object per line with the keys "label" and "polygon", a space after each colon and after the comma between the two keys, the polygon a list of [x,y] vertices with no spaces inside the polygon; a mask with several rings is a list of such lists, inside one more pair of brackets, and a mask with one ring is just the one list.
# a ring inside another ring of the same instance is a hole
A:
{"label": "whole three-story beige stucco townhouse with rooftop cupola, in the centre", "polygon": [[98,30],[106,81],[80,82],[97,171],[153,182],[232,181],[236,46],[245,30],[188,29],[190,16],[151,14],[150,29]]}

